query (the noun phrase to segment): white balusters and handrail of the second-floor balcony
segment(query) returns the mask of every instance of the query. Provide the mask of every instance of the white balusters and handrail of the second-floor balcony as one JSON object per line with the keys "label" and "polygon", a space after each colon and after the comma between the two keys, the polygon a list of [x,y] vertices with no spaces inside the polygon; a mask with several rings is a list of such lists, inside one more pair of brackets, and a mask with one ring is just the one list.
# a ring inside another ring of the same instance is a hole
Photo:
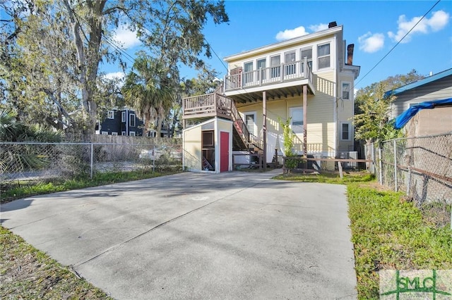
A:
{"label": "white balusters and handrail of the second-floor balcony", "polygon": [[307,58],[293,63],[281,63],[278,66],[226,75],[224,90],[230,91],[246,87],[271,85],[297,79],[308,79],[309,82],[312,82],[312,71],[307,63]]}

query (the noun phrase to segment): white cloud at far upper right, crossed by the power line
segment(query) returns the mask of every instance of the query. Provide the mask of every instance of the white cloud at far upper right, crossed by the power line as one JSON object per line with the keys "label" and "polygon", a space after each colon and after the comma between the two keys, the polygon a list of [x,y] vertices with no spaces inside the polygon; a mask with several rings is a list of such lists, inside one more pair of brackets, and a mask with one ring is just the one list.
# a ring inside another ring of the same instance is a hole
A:
{"label": "white cloud at far upper right, crossed by the power line", "polygon": [[[394,42],[399,42],[410,29],[416,25],[417,22],[422,17],[414,17],[411,20],[407,20],[405,15],[400,15],[398,17],[398,30],[397,33],[388,32],[388,37],[393,39]],[[419,24],[414,27],[410,35],[407,35],[405,39],[403,39],[403,43],[408,43],[411,40],[411,37],[415,33],[427,34],[429,32],[435,32],[443,29],[447,23],[449,22],[449,14],[444,11],[434,11],[432,13],[432,18],[424,18],[420,21]]]}

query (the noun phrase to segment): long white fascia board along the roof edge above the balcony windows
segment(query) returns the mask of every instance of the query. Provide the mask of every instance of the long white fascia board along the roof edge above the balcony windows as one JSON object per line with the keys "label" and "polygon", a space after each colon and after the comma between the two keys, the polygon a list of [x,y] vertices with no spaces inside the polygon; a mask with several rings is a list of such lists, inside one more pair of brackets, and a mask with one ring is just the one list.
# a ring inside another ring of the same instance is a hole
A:
{"label": "long white fascia board along the roof edge above the balcony windows", "polygon": [[319,39],[320,37],[326,37],[328,35],[334,35],[336,32],[342,32],[343,30],[343,25],[338,25],[336,27],[333,28],[328,28],[326,30],[321,30],[318,32],[314,32],[311,33],[309,35],[303,35],[301,37],[294,37],[292,39],[287,39],[283,42],[277,42],[274,44],[269,44],[266,46],[261,46],[258,47],[256,49],[252,49],[249,51],[244,51],[242,53],[239,54],[232,54],[230,56],[225,56],[225,58],[223,58],[223,61],[226,62],[230,62],[230,61],[236,61],[244,56],[252,56],[258,53],[261,53],[263,51],[270,51],[271,49],[275,49],[275,48],[280,48],[280,47],[288,47],[288,46],[292,46],[294,44],[299,44],[302,42],[307,42],[310,39]]}

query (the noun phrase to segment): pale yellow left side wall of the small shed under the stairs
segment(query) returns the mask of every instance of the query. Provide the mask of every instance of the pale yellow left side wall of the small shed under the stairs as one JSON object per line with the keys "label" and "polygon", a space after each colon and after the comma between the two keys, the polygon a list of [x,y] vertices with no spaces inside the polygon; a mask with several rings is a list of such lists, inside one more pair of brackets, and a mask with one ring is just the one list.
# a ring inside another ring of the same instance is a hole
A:
{"label": "pale yellow left side wall of the small shed under the stairs", "polygon": [[201,127],[184,130],[184,165],[189,170],[201,170]]}

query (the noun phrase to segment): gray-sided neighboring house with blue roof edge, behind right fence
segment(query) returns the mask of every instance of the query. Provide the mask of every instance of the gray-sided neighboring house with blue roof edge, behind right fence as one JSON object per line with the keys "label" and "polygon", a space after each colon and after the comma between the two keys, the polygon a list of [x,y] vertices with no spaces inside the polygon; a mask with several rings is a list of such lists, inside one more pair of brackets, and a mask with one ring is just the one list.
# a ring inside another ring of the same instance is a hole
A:
{"label": "gray-sided neighboring house with blue roof edge, behind right fence", "polygon": [[[386,92],[386,96],[391,94],[397,96],[397,99],[391,104],[390,119],[396,118],[415,104],[451,98],[452,68]],[[405,125],[405,132],[409,137],[437,135],[451,131],[452,106],[423,109]]]}

